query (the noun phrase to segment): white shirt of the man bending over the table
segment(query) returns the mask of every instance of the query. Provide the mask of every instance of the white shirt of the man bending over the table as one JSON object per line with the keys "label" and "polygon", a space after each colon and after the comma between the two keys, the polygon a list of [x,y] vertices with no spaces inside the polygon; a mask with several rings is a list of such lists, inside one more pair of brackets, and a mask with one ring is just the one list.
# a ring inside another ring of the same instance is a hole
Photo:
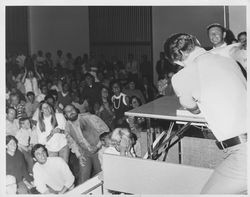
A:
{"label": "white shirt of the man bending over the table", "polygon": [[177,96],[197,100],[217,140],[246,133],[247,88],[239,66],[230,58],[201,54],[173,76]]}

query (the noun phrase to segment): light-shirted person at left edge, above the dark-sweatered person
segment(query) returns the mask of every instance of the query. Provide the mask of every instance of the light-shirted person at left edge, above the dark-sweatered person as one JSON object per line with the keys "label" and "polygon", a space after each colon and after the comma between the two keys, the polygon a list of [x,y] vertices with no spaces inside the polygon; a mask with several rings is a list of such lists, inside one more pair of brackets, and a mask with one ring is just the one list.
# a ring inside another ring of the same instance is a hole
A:
{"label": "light-shirted person at left edge, above the dark-sweatered person", "polygon": [[16,110],[13,107],[9,107],[6,114],[6,135],[15,136],[18,129],[19,122],[16,119]]}

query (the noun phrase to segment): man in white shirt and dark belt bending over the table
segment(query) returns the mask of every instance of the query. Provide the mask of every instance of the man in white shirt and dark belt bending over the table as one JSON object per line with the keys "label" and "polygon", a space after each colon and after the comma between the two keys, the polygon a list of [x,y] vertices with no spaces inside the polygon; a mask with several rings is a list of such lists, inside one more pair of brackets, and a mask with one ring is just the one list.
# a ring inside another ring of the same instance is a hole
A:
{"label": "man in white shirt and dark belt bending over the table", "polygon": [[203,113],[217,146],[226,154],[201,193],[238,194],[247,190],[246,79],[237,63],[206,52],[189,34],[171,36],[165,43],[168,58],[184,68],[172,77],[183,107]]}

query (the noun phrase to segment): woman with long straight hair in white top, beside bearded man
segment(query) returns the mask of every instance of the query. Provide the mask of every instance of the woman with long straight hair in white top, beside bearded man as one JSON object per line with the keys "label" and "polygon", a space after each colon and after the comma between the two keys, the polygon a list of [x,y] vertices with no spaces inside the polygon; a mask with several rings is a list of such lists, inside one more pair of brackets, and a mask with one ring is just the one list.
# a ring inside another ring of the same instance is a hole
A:
{"label": "woman with long straight hair in white top, beside bearded man", "polygon": [[69,147],[63,133],[65,124],[62,113],[55,113],[46,101],[40,103],[37,120],[38,143],[46,145],[50,156],[60,156],[68,162]]}

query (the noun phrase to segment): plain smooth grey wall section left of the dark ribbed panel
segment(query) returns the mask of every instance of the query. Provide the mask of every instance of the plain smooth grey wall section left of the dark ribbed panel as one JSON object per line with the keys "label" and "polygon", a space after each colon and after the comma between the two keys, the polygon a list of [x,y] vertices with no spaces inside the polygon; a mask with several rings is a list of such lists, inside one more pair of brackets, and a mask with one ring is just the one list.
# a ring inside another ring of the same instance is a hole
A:
{"label": "plain smooth grey wall section left of the dark ribbed panel", "polygon": [[89,19],[87,6],[29,7],[31,53],[41,49],[55,57],[62,49],[73,57],[89,53]]}

